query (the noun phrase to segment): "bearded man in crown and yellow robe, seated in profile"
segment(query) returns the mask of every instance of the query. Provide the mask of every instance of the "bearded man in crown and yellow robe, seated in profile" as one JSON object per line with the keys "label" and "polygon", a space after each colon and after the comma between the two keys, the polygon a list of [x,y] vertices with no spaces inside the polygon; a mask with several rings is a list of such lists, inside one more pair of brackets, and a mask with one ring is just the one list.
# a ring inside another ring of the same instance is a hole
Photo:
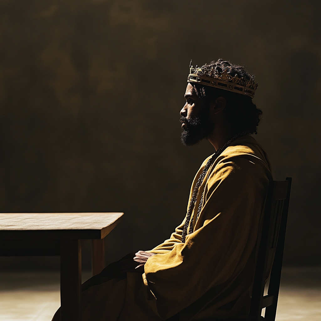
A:
{"label": "bearded man in crown and yellow robe, seated in profile", "polygon": [[[191,187],[187,215],[150,251],[128,254],[83,284],[83,321],[236,320],[248,316],[270,164],[256,133],[257,84],[219,59],[190,66],[182,143],[216,152]],[[59,320],[59,310],[53,320]]]}

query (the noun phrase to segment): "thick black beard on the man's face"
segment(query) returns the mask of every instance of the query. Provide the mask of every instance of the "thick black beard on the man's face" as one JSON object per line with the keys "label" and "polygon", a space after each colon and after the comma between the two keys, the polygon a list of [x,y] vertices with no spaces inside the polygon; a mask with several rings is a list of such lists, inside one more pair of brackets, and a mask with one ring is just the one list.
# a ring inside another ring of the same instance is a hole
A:
{"label": "thick black beard on the man's face", "polygon": [[185,146],[198,144],[212,134],[214,124],[211,121],[209,106],[204,106],[201,111],[193,118],[181,117],[180,122],[186,124],[181,134],[181,142]]}

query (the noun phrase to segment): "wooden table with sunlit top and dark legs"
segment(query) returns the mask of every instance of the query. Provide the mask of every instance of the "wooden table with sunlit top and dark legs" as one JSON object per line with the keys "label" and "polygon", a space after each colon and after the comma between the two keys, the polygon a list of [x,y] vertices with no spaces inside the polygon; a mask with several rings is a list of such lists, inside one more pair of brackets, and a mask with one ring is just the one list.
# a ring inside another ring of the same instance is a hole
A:
{"label": "wooden table with sunlit top and dark legs", "polygon": [[92,271],[105,267],[105,236],[124,213],[0,213],[0,256],[60,255],[62,321],[81,321],[81,239]]}

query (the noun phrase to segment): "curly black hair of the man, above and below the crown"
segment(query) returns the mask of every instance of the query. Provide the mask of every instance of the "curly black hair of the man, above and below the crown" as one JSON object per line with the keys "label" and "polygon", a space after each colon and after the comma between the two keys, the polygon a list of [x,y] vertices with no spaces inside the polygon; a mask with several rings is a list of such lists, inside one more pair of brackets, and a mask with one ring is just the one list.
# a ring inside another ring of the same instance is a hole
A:
{"label": "curly black hair of the man, above and below the crown", "polygon": [[[233,65],[230,61],[219,59],[212,61],[200,67],[197,74],[200,76],[211,77],[212,73],[223,72],[227,69],[227,73],[231,76],[237,75],[239,78],[251,79],[251,76],[242,66]],[[195,84],[190,82],[194,87],[197,97],[207,103],[215,101],[218,97],[226,99],[226,106],[223,113],[226,117],[228,126],[232,134],[247,132],[249,134],[257,134],[257,126],[259,125],[262,110],[257,108],[252,102],[252,98],[236,92],[219,89],[215,87]]]}

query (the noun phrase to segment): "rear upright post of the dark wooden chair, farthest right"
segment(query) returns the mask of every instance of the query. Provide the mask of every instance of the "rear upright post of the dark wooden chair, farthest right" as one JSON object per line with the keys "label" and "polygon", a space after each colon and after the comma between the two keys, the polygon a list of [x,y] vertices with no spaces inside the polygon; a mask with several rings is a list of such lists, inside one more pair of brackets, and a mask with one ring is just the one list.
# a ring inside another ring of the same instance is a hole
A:
{"label": "rear upright post of the dark wooden chair, farthest right", "polygon": [[268,295],[273,295],[274,300],[273,300],[273,304],[265,309],[264,319],[266,321],[275,320],[276,308],[277,308],[278,296],[279,296],[279,290],[280,290],[283,250],[284,250],[284,242],[285,242],[286,224],[288,219],[292,178],[287,177],[286,180],[289,181],[289,185],[288,185],[286,199],[284,200],[279,236],[277,240],[277,247],[275,251],[275,257],[274,257],[274,262],[273,262],[273,267],[272,267],[271,277],[270,277],[270,284],[268,289]]}

